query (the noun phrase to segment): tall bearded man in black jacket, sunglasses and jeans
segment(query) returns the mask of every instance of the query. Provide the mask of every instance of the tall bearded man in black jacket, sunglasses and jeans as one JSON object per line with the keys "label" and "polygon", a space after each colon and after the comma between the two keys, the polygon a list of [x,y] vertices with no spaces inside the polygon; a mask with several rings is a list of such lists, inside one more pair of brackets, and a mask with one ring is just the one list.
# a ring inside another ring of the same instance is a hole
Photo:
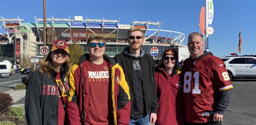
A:
{"label": "tall bearded man in black jacket, sunglasses and jeans", "polygon": [[155,123],[158,109],[155,61],[152,56],[141,49],[144,35],[140,28],[130,28],[127,35],[130,47],[126,47],[122,53],[117,54],[114,58],[123,68],[125,79],[130,88],[130,124]]}

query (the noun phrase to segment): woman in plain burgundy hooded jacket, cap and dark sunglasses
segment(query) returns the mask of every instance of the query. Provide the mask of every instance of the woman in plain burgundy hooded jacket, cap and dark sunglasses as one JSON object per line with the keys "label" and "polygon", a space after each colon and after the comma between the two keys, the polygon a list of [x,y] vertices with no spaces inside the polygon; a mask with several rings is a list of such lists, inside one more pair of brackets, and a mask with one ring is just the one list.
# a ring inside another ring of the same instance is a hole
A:
{"label": "woman in plain burgundy hooded jacket, cap and dark sunglasses", "polygon": [[185,109],[181,69],[177,65],[178,54],[175,49],[166,49],[162,62],[155,69],[159,108],[155,124],[184,124]]}

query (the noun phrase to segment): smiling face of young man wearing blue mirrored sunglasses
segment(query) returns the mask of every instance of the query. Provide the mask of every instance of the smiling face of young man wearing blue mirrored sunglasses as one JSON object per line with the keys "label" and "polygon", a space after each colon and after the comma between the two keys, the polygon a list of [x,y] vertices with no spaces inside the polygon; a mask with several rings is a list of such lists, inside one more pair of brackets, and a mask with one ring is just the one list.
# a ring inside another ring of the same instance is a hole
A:
{"label": "smiling face of young man wearing blue mirrored sunglasses", "polygon": [[[92,40],[90,43],[104,43],[104,41],[100,40]],[[90,58],[101,58],[103,57],[103,54],[105,52],[105,46],[103,46],[102,48],[100,48],[98,46],[98,44],[96,45],[95,48],[91,47],[90,44],[88,46],[88,51],[89,51],[89,54],[90,54]]]}

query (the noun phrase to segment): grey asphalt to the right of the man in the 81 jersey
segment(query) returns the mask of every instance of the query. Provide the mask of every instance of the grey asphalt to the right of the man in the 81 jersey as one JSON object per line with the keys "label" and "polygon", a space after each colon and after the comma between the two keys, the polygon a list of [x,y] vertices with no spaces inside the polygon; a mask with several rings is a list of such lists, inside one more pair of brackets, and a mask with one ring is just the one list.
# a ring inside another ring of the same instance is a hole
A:
{"label": "grey asphalt to the right of the man in the 81 jersey", "polygon": [[256,80],[234,80],[232,85],[230,105],[222,124],[256,124]]}

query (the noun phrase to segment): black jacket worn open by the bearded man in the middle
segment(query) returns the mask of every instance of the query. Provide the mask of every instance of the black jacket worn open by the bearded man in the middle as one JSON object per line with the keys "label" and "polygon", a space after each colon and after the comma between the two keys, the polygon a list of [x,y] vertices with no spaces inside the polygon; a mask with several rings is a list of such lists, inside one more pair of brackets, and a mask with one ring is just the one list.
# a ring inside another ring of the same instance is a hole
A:
{"label": "black jacket worn open by the bearded man in the middle", "polygon": [[[131,96],[131,113],[130,117],[134,116],[134,90],[133,90],[133,58],[129,52],[130,47],[126,47],[122,53],[117,54],[114,59],[123,68],[125,80],[130,88]],[[145,99],[146,113],[157,113],[158,99],[156,94],[155,80],[155,60],[152,56],[140,50],[140,68],[142,73],[143,94]]]}

